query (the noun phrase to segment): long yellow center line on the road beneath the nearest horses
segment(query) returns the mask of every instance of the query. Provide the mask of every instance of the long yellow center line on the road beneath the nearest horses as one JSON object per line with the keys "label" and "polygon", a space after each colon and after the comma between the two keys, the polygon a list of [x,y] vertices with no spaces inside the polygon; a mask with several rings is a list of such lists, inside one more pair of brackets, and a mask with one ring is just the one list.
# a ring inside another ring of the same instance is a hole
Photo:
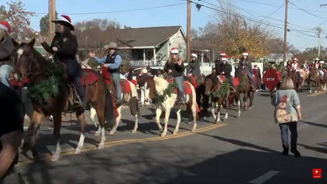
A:
{"label": "long yellow center line on the road beneath the nearest horses", "polygon": [[[176,139],[176,138],[181,138],[181,137],[185,137],[185,136],[190,136],[193,134],[197,134],[197,133],[201,133],[201,132],[205,132],[211,129],[215,129],[221,126],[227,125],[226,123],[218,123],[218,124],[214,124],[214,125],[209,125],[200,129],[195,130],[195,132],[182,132],[179,134],[175,134],[175,135],[169,135],[169,136],[165,136],[165,137],[152,137],[152,138],[145,138],[145,139],[126,139],[126,140],[119,140],[119,141],[112,141],[112,142],[105,142],[104,147],[112,147],[112,146],[118,146],[118,145],[124,145],[124,144],[129,144],[129,143],[141,143],[141,142],[150,142],[150,141],[161,141],[161,140],[168,140],[168,139]],[[85,146],[82,148],[82,151],[89,151],[89,150],[95,150],[98,147],[95,145],[89,145],[89,146]],[[61,151],[60,156],[64,156],[64,155],[72,155],[74,154],[74,148],[67,148]],[[42,159],[46,160],[50,160],[51,159],[51,154],[49,153],[45,153],[40,155]],[[27,160],[27,161],[23,161],[23,162],[19,162],[18,164],[16,164],[17,167],[28,164],[28,163],[32,163],[34,162],[33,160]]]}

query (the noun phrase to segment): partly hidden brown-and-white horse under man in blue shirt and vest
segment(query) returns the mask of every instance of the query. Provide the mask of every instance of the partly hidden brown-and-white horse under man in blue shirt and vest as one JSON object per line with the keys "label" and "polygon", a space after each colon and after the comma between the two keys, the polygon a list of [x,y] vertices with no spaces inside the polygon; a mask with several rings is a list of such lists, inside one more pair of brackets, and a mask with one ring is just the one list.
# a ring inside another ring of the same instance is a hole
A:
{"label": "partly hidden brown-and-white horse under man in blue shirt and vest", "polygon": [[[126,81],[128,81],[128,80],[126,80]],[[128,107],[130,108],[131,114],[134,115],[134,117],[135,117],[135,124],[134,124],[134,128],[132,130],[132,133],[136,133],[137,127],[138,127],[138,97],[137,97],[136,86],[133,83],[131,83],[130,81],[128,81],[128,84],[130,86],[131,91],[130,91],[130,93],[122,93],[122,98],[123,98],[122,101],[125,101],[126,103],[128,103]],[[118,117],[115,118],[114,126],[112,127],[112,129],[109,132],[110,135],[113,135],[116,132],[119,122],[121,121],[121,118],[122,118],[121,110],[122,110],[122,106],[117,108]],[[95,121],[95,115],[97,113],[96,113],[95,109],[93,109],[93,108],[91,108],[90,112],[91,112],[90,120],[97,127],[98,123]],[[106,119],[108,119],[108,117],[106,117]],[[101,127],[99,126],[99,129],[97,130],[95,135],[98,136],[98,135],[100,135],[100,133],[101,133]]]}

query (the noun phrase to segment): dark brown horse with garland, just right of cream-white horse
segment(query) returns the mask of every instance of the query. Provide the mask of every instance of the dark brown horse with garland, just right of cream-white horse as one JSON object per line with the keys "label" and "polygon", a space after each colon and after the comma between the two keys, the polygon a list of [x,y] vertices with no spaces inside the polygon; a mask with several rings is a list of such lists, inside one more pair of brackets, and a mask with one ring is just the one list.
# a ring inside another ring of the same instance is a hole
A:
{"label": "dark brown horse with garland, just right of cream-white horse", "polygon": [[[217,94],[219,91],[224,90],[223,81],[226,80],[224,76],[217,76],[217,75],[207,75],[204,78],[204,86],[205,90],[204,93],[207,96],[211,97],[212,108],[211,112],[214,118],[215,123],[220,121],[220,109],[222,107],[223,101],[226,102],[226,114],[225,119],[228,118],[228,109],[229,109],[229,85],[227,86],[227,91],[224,94]],[[218,105],[217,105],[218,103]],[[215,114],[215,108],[217,108],[217,116]]]}

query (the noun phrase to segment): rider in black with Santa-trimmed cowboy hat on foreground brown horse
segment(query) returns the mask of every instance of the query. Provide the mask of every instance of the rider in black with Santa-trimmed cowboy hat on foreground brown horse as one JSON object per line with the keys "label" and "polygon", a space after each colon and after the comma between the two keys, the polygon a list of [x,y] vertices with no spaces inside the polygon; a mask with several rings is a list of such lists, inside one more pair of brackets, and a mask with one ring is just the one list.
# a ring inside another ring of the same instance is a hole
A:
{"label": "rider in black with Santa-trimmed cowboy hat on foreground brown horse", "polygon": [[[81,73],[82,69],[77,62],[77,38],[72,34],[74,31],[74,25],[72,20],[67,15],[60,15],[59,20],[53,20],[56,23],[56,35],[51,43],[51,54],[54,54],[54,61],[62,62],[66,65],[66,72],[72,80],[73,85],[78,93],[80,101],[74,101],[74,105],[78,105],[85,108],[84,101],[84,89],[81,83]],[[41,45],[44,48],[48,48],[49,45],[46,42],[42,42]]]}

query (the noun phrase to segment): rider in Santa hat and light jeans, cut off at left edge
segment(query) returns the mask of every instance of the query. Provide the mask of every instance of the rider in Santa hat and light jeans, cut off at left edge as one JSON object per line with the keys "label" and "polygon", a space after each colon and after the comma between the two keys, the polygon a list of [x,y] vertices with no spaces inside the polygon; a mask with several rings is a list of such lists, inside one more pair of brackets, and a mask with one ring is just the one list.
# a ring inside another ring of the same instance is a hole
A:
{"label": "rider in Santa hat and light jeans, cut off at left edge", "polygon": [[0,21],[0,80],[10,87],[8,77],[13,69],[12,52],[15,50],[13,38],[7,33],[10,33],[10,25],[6,21]]}

